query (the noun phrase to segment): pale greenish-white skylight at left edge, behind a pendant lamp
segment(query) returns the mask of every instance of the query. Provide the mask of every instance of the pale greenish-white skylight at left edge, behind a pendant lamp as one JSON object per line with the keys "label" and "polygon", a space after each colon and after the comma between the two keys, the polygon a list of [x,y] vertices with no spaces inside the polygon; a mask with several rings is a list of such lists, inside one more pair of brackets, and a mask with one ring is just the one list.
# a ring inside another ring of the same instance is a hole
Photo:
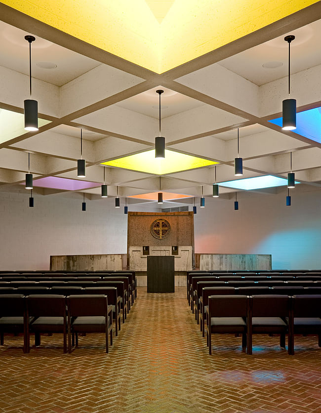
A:
{"label": "pale greenish-white skylight at left edge, behind a pendant lamp", "polygon": [[[39,127],[49,124],[50,121],[38,118]],[[7,142],[18,136],[28,133],[24,129],[24,114],[0,109],[0,143]]]}

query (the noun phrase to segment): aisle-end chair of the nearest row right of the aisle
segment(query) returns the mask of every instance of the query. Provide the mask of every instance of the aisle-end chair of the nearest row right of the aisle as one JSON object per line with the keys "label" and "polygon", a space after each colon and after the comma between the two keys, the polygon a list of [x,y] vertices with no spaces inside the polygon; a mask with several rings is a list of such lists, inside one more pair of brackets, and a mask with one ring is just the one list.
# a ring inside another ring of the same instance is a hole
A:
{"label": "aisle-end chair of the nearest row right of the aisle", "polygon": [[206,338],[212,354],[212,334],[242,334],[242,348],[246,347],[246,295],[211,295],[206,309]]}

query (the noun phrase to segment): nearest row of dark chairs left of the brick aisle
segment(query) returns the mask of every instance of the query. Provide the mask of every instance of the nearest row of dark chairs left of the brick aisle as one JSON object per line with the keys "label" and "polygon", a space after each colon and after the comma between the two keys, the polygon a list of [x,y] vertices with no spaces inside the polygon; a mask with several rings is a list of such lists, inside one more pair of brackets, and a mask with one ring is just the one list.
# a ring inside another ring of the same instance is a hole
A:
{"label": "nearest row of dark chairs left of the brick aisle", "polygon": [[[113,306],[104,294],[2,294],[0,295],[0,345],[4,333],[23,333],[24,353],[30,351],[30,333],[35,334],[35,346],[41,333],[62,333],[63,349],[71,353],[78,346],[79,333],[105,333],[106,353],[113,344]],[[116,324],[117,331],[117,324]]]}

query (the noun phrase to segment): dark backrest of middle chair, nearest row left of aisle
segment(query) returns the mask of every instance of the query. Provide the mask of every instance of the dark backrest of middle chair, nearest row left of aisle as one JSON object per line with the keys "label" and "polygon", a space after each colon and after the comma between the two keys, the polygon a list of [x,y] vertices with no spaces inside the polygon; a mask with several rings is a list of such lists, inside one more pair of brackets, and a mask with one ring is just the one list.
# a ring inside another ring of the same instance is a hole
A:
{"label": "dark backrest of middle chair, nearest row left of aisle", "polygon": [[66,297],[58,294],[31,294],[26,297],[28,315],[34,317],[64,317]]}

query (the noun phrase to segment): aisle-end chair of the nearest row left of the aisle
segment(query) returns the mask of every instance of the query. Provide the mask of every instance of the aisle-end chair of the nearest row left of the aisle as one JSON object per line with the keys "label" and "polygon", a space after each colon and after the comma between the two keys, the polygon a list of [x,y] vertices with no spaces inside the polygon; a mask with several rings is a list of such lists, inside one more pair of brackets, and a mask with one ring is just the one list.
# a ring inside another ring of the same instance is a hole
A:
{"label": "aisle-end chair of the nearest row left of the aisle", "polygon": [[108,306],[107,295],[82,294],[67,297],[68,307],[68,351],[71,353],[71,334],[76,334],[76,347],[78,347],[78,333],[104,332],[106,339],[106,353],[110,344],[113,344],[113,311]]}

